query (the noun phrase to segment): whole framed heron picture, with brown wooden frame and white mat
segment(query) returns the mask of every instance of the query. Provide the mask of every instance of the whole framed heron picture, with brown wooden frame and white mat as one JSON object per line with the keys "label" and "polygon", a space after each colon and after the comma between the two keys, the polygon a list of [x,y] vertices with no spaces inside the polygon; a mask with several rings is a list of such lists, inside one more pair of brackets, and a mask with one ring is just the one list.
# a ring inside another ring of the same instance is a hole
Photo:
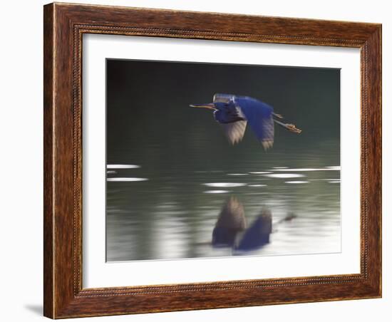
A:
{"label": "whole framed heron picture, with brown wooden frame and white mat", "polygon": [[381,25],[44,6],[44,315],[381,297]]}

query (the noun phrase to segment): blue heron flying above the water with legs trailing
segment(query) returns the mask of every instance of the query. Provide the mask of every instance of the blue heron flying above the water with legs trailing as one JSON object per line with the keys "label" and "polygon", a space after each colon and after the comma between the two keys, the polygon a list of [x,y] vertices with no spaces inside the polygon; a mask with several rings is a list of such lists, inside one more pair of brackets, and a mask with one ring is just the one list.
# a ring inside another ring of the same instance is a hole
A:
{"label": "blue heron flying above the water with legs trailing", "polygon": [[264,150],[274,143],[274,123],[293,133],[301,133],[294,124],[280,121],[282,115],[274,113],[271,106],[249,96],[215,94],[212,103],[191,104],[190,107],[213,110],[215,120],[223,125],[227,139],[232,144],[242,140],[248,122]]}

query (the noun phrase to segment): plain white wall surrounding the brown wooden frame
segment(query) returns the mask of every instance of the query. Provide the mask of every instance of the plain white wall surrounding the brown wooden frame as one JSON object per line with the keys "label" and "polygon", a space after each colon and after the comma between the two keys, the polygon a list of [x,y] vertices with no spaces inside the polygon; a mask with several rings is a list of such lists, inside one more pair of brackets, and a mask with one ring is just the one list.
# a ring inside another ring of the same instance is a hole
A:
{"label": "plain white wall surrounding the brown wooden frame", "polygon": [[[252,308],[84,318],[82,321],[390,321],[392,118],[392,10],[389,1],[217,1],[81,0],[91,4],[217,11],[237,14],[366,21],[383,24],[383,298]],[[68,2],[68,1],[67,1]],[[43,321],[42,317],[42,19],[41,0],[1,3],[1,266],[2,321]],[[389,253],[389,254],[388,254]]]}

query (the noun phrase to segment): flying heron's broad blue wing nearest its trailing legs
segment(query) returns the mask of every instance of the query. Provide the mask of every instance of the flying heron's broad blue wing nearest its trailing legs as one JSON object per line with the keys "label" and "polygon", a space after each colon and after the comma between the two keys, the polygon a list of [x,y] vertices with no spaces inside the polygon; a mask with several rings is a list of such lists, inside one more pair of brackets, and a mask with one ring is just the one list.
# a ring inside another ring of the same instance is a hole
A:
{"label": "flying heron's broad blue wing nearest its trailing legs", "polygon": [[242,114],[249,122],[254,134],[262,142],[265,150],[274,144],[273,109],[259,100],[236,100]]}

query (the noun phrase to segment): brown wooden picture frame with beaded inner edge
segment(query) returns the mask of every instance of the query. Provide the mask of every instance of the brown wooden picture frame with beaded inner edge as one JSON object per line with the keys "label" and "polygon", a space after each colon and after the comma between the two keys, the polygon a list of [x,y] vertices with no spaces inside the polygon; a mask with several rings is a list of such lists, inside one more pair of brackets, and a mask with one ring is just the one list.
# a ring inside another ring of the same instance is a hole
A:
{"label": "brown wooden picture frame with beaded inner edge", "polygon": [[[215,24],[218,19],[229,24]],[[50,318],[381,297],[381,25],[44,6],[44,315]],[[361,50],[361,273],[105,289],[82,287],[82,36],[105,33]]]}

